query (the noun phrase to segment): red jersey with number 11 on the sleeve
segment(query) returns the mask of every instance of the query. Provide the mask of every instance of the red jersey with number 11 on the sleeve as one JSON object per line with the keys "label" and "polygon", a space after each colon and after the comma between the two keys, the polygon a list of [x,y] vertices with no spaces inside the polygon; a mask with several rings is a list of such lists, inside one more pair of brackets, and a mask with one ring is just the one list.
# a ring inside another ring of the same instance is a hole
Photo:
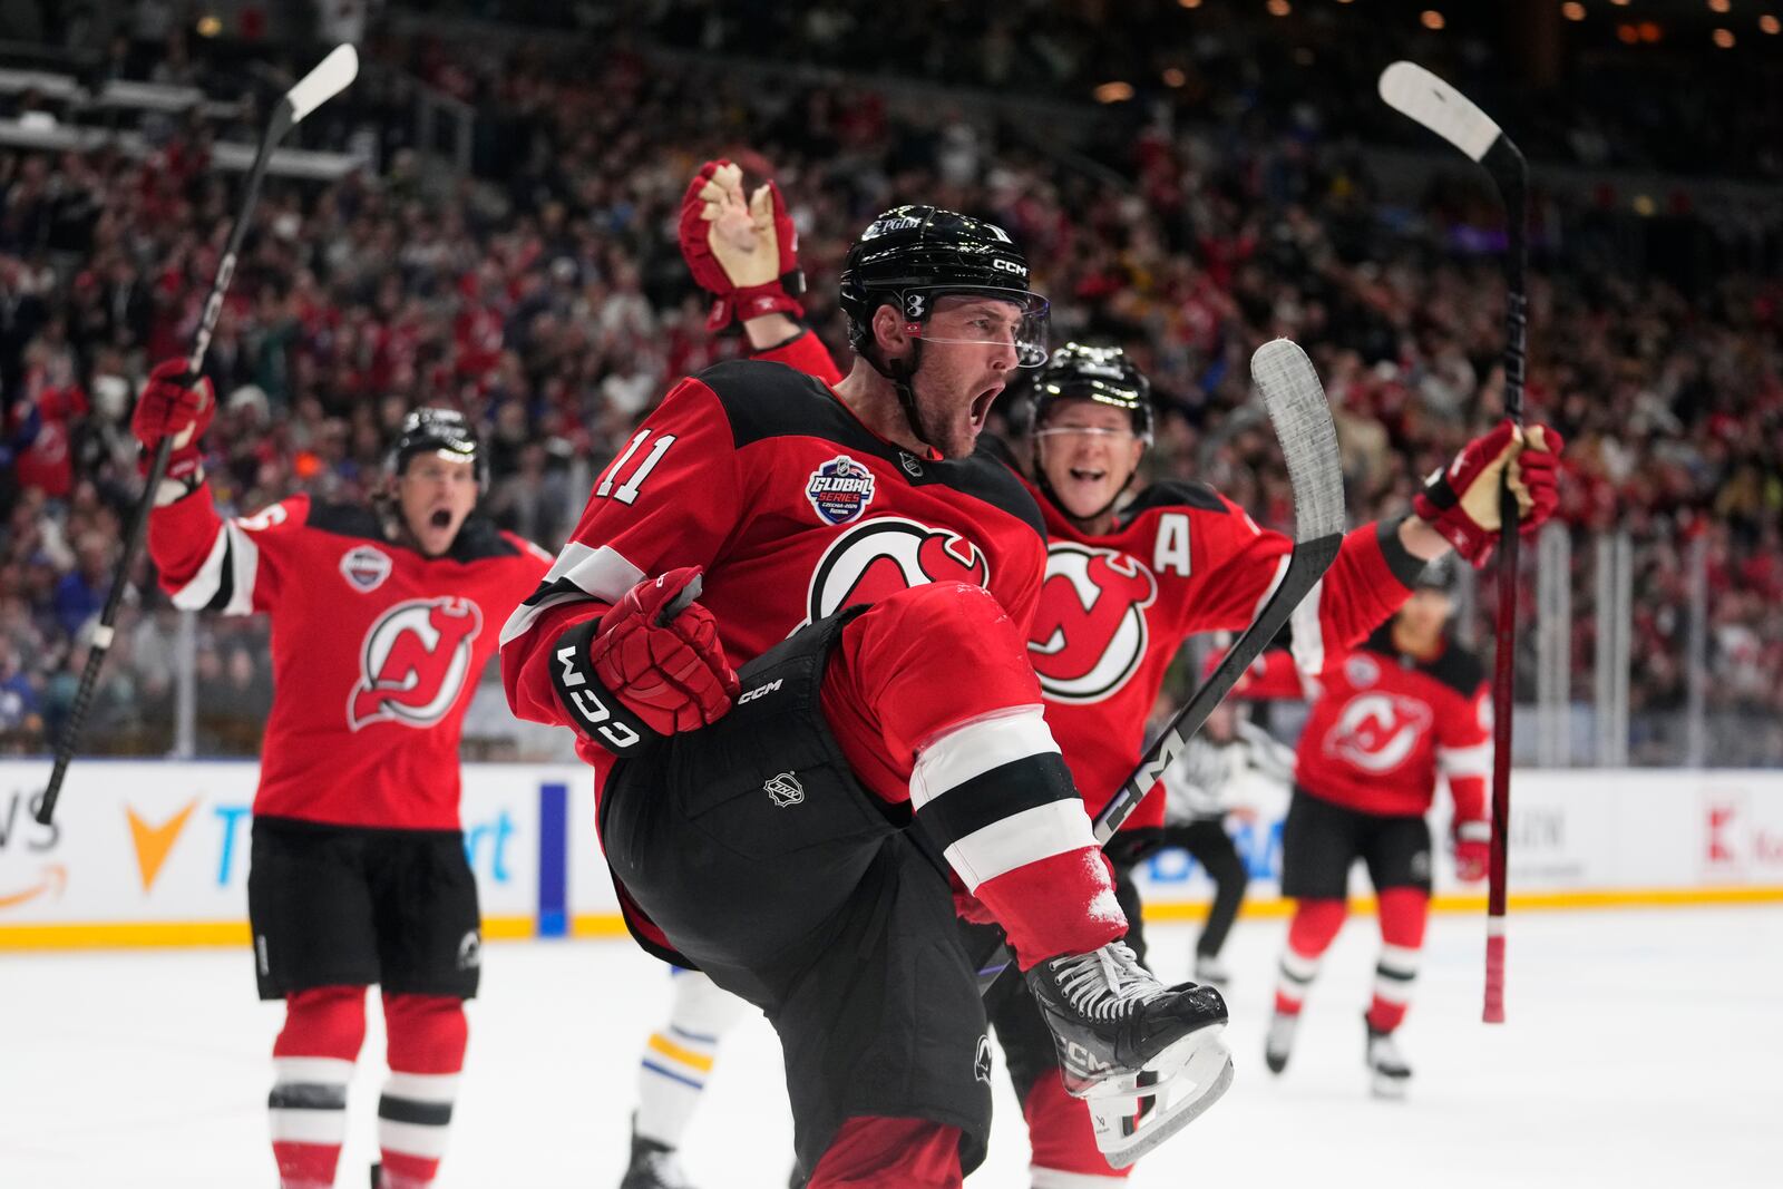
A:
{"label": "red jersey with number 11 on the sleeve", "polygon": [[[508,704],[571,726],[549,645],[645,576],[704,567],[699,601],[733,665],[799,626],[931,581],[988,588],[1025,631],[1039,510],[988,451],[922,458],[868,431],[818,380],[729,362],[683,380],[601,472],[571,542],[501,633]],[[606,750],[578,734],[604,779]]]}

